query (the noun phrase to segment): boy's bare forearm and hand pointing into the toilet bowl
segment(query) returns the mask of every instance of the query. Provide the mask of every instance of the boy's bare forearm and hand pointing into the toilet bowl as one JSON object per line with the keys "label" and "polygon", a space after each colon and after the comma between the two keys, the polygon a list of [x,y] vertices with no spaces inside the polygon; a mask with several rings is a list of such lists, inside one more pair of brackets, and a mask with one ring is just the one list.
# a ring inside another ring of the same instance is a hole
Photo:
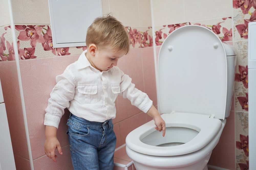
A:
{"label": "boy's bare forearm and hand pointing into the toilet bowl", "polygon": [[156,110],[155,106],[151,106],[151,108],[147,111],[147,114],[153,117],[155,121],[155,129],[161,132],[163,130],[163,136],[165,135],[165,121],[160,116],[159,112]]}

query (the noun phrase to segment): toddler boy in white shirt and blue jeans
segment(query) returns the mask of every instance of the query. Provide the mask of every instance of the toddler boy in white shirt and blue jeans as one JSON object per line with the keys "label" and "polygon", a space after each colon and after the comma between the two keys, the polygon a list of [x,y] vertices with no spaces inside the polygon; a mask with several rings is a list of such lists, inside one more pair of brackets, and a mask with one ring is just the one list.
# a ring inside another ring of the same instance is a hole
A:
{"label": "toddler boy in white shirt and blue jeans", "polygon": [[96,18],[87,30],[86,45],[88,49],[78,61],[56,76],[45,110],[45,153],[55,162],[55,149],[62,154],[56,134],[68,108],[67,134],[74,170],[113,169],[116,137],[112,119],[118,95],[153,117],[163,136],[165,122],[147,94],[136,89],[132,79],[117,67],[118,59],[130,50],[130,38],[121,22],[110,15]]}

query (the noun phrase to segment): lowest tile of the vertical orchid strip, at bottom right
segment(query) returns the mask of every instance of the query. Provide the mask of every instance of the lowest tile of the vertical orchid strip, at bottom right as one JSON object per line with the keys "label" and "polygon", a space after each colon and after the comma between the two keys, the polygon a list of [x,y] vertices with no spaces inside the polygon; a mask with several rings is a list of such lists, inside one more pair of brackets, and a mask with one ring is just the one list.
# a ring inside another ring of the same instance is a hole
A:
{"label": "lowest tile of the vertical orchid strip, at bottom right", "polygon": [[236,112],[236,169],[249,168],[248,112]]}

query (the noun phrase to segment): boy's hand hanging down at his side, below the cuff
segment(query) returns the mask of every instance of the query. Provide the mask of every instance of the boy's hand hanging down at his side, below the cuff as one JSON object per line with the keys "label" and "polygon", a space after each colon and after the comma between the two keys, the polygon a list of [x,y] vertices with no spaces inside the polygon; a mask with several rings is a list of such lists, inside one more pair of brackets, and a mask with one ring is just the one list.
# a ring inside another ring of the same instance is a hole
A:
{"label": "boy's hand hanging down at his side, below the cuff", "polygon": [[51,158],[54,162],[58,157],[55,155],[55,149],[58,149],[59,154],[62,155],[62,149],[60,147],[60,142],[58,141],[57,137],[57,128],[54,126],[45,126],[45,154]]}

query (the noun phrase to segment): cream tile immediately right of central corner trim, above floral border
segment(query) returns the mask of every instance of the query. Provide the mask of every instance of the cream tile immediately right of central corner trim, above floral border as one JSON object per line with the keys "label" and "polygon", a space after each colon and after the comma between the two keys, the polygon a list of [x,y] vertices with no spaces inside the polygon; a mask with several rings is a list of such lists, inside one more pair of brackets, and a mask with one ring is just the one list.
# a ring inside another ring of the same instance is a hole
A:
{"label": "cream tile immediately right of central corner trim, above floral border", "polygon": [[185,22],[184,1],[153,0],[154,25]]}

